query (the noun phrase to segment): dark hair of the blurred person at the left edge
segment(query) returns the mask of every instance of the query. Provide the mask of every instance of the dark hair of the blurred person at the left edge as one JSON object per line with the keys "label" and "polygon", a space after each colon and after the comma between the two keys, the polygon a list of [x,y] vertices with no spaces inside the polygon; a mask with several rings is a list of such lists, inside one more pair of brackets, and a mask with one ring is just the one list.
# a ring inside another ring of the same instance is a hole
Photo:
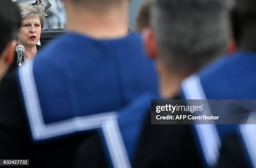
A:
{"label": "dark hair of the blurred person at the left edge", "polygon": [[18,6],[11,0],[0,0],[0,55],[8,42],[16,39],[21,25]]}

